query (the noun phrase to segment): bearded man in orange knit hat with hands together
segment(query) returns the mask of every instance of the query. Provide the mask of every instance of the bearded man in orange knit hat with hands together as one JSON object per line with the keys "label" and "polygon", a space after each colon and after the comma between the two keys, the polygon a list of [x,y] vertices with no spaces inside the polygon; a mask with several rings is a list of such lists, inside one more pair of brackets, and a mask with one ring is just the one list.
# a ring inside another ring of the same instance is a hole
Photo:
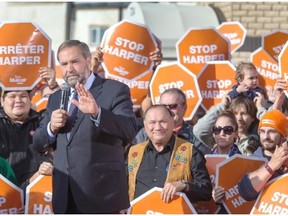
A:
{"label": "bearded man in orange knit hat with hands together", "polygon": [[247,201],[256,200],[266,183],[288,172],[288,120],[279,110],[267,111],[260,120],[258,133],[261,144],[253,156],[268,162],[245,175],[238,184],[240,195]]}

